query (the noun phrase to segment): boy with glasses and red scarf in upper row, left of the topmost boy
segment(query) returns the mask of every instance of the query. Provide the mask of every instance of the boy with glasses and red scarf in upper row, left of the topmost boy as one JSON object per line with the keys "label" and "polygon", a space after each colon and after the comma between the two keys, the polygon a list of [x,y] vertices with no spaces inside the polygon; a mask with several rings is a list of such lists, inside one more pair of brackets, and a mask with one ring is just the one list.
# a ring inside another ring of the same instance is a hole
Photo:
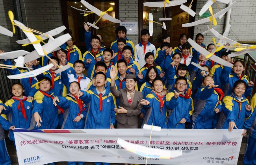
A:
{"label": "boy with glasses and red scarf in upper row, left of the topmost boy", "polygon": [[87,77],[91,77],[93,74],[93,68],[95,64],[102,61],[102,51],[99,49],[100,38],[98,36],[93,36],[91,38],[92,48],[83,54],[82,61],[85,64],[85,69],[87,70]]}

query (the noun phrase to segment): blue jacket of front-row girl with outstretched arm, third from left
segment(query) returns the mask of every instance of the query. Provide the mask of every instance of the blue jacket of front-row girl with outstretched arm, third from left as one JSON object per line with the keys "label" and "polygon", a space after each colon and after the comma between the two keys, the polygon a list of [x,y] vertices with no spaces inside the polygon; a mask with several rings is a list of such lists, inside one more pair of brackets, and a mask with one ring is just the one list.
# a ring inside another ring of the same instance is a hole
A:
{"label": "blue jacket of front-row girl with outstretched arm, third from left", "polygon": [[[78,107],[78,103],[76,102],[76,98],[72,96],[71,94],[68,94],[66,97],[58,97],[59,102],[56,102],[61,108],[65,109],[64,112],[64,121],[62,125],[62,129],[84,129],[85,125],[85,117],[87,113],[86,105],[83,104],[83,107],[86,109],[86,111],[83,109],[82,113],[83,118],[78,121],[74,122],[73,120],[80,114],[80,109]],[[83,101],[84,96],[81,96],[80,99]]]}

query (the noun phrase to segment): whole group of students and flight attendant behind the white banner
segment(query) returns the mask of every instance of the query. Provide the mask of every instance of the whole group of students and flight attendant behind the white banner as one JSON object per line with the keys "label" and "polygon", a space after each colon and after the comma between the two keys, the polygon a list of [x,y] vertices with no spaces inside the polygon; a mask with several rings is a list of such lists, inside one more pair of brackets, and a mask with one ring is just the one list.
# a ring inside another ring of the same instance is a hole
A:
{"label": "whole group of students and flight attendant behind the white banner", "polygon": [[[108,48],[100,34],[91,36],[86,24],[84,29],[88,51],[82,55],[71,38],[60,50],[48,54],[50,59],[42,57],[42,66],[54,64],[49,71],[13,84],[11,99],[0,103],[0,164],[10,163],[2,129],[9,131],[9,139],[14,142],[15,127],[130,129],[139,128],[139,118],[141,127],[244,129],[243,134],[248,133],[244,164],[256,164],[256,94],[251,103],[247,100],[254,83],[243,74],[243,62],[228,58],[229,51],[223,49],[214,55],[233,63],[232,68],[206,59],[187,43],[186,34],[180,35],[180,44],[174,48],[171,36],[163,35],[163,43],[156,49],[148,42],[149,31],[143,29],[141,42],[134,47],[126,38],[126,28],[119,26],[115,31],[117,40]],[[212,52],[215,45],[206,47],[203,39],[197,34],[195,41]],[[4,63],[11,65],[9,60]],[[56,74],[56,64],[71,67]],[[37,60],[26,65],[41,67]],[[8,71],[19,74],[29,69]]]}

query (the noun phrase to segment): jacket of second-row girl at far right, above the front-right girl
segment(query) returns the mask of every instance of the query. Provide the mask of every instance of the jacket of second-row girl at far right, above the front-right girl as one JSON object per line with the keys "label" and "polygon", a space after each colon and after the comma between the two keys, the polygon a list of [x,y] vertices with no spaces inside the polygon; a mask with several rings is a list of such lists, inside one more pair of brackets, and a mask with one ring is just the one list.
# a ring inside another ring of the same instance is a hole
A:
{"label": "jacket of second-row girl at far right, above the front-right girl", "polygon": [[247,88],[246,88],[246,91],[245,91],[245,97],[248,97],[252,94],[252,88],[253,86],[249,87],[248,86],[248,83],[249,81],[247,80],[247,76],[246,75],[241,75],[241,78],[236,74],[234,73],[233,71],[228,74],[226,72],[226,68],[227,67],[224,67],[222,73],[221,73],[221,82],[223,83],[223,91],[224,91],[224,96],[227,96],[227,95],[230,95],[231,92],[233,91],[233,86],[234,86],[234,83],[237,81],[237,80],[243,80],[244,82],[246,82],[247,84]]}

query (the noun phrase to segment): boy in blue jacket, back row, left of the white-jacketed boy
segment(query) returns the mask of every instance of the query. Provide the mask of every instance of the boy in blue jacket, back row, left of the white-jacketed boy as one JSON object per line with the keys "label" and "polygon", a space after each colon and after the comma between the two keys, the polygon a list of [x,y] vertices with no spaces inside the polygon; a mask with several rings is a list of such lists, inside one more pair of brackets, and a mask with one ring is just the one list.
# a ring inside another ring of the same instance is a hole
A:
{"label": "boy in blue jacket, back row, left of the white-jacketed boy", "polygon": [[[134,43],[129,40],[128,38],[126,38],[126,33],[127,33],[127,29],[124,26],[119,26],[117,27],[117,29],[115,30],[115,34],[117,34],[117,40],[119,40],[120,38],[124,38],[126,40],[126,45],[130,46],[132,48],[132,59],[134,59]],[[117,47],[117,40],[113,41],[110,49],[112,49],[114,51],[114,53],[118,52],[118,47]]]}

